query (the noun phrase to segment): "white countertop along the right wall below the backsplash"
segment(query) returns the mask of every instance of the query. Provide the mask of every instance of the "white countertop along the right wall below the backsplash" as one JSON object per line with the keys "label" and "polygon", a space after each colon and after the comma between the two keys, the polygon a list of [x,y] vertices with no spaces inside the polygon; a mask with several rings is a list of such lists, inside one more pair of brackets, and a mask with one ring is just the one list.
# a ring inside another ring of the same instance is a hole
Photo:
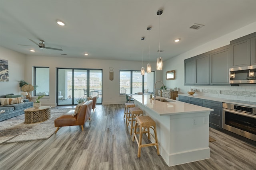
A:
{"label": "white countertop along the right wall below the backsplash", "polygon": [[178,96],[187,96],[187,97],[212,100],[212,101],[217,101],[217,102],[222,102],[222,103],[230,103],[230,104],[237,104],[237,105],[242,105],[242,106],[256,107],[256,102],[247,102],[247,101],[242,101],[242,100],[239,102],[232,102],[232,100],[234,100],[234,99],[214,98],[214,97],[210,97],[210,96],[200,96],[200,95],[196,95],[196,94],[194,94],[194,95],[178,94]]}

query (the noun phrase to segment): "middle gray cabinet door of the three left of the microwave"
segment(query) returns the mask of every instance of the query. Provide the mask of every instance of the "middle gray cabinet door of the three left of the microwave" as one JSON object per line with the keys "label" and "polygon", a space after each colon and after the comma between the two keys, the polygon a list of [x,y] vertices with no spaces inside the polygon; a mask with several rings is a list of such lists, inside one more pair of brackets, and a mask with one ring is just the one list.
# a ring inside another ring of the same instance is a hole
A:
{"label": "middle gray cabinet door of the three left of the microwave", "polygon": [[196,82],[195,84],[209,84],[210,76],[210,55],[199,55],[196,61]]}

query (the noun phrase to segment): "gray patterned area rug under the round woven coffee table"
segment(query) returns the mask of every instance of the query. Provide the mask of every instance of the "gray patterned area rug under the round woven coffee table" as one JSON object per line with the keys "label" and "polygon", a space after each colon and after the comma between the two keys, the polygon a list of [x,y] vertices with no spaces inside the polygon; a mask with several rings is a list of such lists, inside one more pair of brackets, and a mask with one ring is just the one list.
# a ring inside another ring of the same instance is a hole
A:
{"label": "gray patterned area rug under the round woven coffee table", "polygon": [[54,119],[69,110],[74,110],[74,108],[51,108],[52,118],[40,123],[24,124],[24,114],[1,121],[0,144],[48,139],[56,130]]}

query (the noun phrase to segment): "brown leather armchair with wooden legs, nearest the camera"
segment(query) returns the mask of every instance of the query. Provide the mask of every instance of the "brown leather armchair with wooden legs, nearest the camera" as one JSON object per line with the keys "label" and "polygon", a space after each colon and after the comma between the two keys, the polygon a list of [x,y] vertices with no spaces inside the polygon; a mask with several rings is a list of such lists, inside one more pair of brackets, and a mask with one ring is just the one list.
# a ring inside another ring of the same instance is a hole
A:
{"label": "brown leather armchair with wooden legs, nearest the camera", "polygon": [[74,110],[68,111],[68,113],[61,115],[60,117],[54,120],[54,126],[57,127],[55,133],[59,130],[62,126],[76,126],[80,125],[82,131],[84,131],[84,123],[89,119],[92,111],[92,100],[85,102],[79,109],[77,115],[74,117],[72,114]]}

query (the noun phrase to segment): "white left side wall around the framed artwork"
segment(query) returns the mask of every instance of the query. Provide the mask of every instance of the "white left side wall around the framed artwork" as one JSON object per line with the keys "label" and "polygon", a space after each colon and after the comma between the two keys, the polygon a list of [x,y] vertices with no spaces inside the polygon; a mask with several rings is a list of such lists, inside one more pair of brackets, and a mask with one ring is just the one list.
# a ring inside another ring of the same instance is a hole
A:
{"label": "white left side wall around the framed artwork", "polygon": [[19,87],[19,81],[22,79],[26,81],[24,78],[26,56],[10,49],[0,47],[0,59],[8,60],[9,70],[9,81],[0,82],[0,95],[6,95],[9,93],[20,95],[21,90]]}

